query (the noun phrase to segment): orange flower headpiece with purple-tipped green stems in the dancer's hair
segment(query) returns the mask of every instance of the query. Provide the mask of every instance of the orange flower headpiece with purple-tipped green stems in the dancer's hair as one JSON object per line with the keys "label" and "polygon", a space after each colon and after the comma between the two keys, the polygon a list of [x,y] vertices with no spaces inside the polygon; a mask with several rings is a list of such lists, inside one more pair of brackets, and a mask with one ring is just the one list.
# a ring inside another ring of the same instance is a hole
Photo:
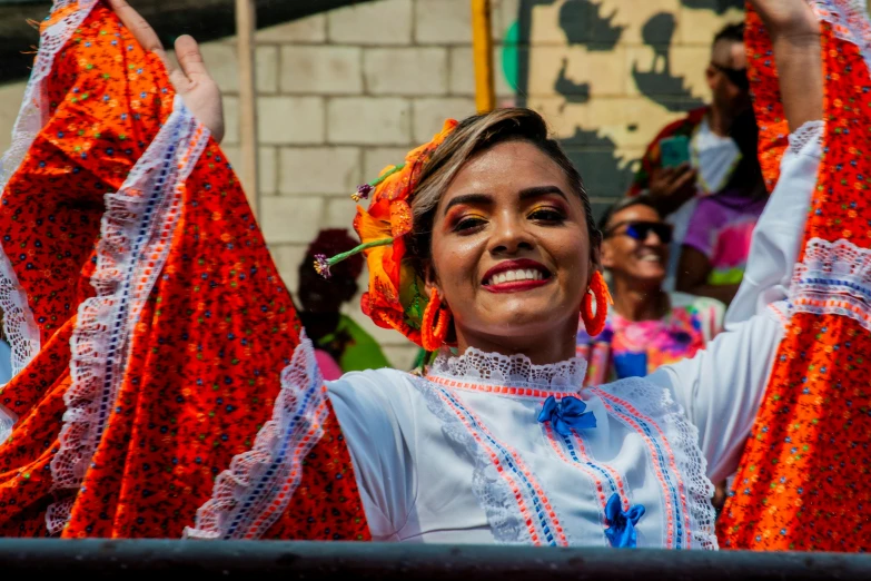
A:
{"label": "orange flower headpiece with purple-tipped green stems in the dancer's hair", "polygon": [[379,327],[394,328],[417,345],[428,298],[423,293],[424,282],[406,256],[405,236],[413,226],[410,197],[424,165],[456,126],[457,121],[448,119],[432,141],[409,151],[404,164],[388,166],[376,180],[357,187],[352,196],[355,201],[372,196],[369,209],[357,206],[354,218],[359,246],[331,258],[315,256],[317,272],[329,277],[330,266],[364,253],[369,289],[360,299],[363,312]]}

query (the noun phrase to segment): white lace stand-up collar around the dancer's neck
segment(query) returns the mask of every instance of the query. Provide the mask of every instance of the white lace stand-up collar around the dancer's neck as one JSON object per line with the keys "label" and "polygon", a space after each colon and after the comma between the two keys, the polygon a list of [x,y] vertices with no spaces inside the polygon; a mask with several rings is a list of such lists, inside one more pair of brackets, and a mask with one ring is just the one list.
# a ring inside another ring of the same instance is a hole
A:
{"label": "white lace stand-up collar around the dancer's neck", "polygon": [[443,351],[429,367],[427,377],[454,387],[497,391],[513,394],[517,390],[576,393],[586,375],[586,361],[580,357],[548,365],[533,365],[525,355],[484,353],[474,347],[459,356]]}

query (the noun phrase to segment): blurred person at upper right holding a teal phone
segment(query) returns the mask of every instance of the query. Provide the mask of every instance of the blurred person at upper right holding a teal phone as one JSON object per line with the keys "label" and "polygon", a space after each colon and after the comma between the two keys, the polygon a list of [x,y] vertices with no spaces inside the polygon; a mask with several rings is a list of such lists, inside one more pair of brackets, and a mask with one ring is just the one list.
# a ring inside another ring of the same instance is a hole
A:
{"label": "blurred person at upper right holding a teal phone", "polygon": [[[729,210],[714,209],[719,229],[729,230],[726,225],[735,217],[735,211],[741,221],[745,215],[758,216],[758,210],[764,206],[765,190],[756,160],[758,129],[751,108],[744,51],[743,23],[729,24],[714,37],[705,72],[711,105],[690,111],[660,131],[647,147],[628,191],[630,196],[649,194],[661,215],[674,226],[664,283],[666,290],[677,285],[679,290],[731,301],[733,288],[725,292],[709,288],[711,284],[720,284],[723,277],[709,278],[714,269],[736,272],[724,264],[742,260],[711,250],[709,247],[715,246],[715,240],[704,246],[694,244],[693,248],[707,262],[691,253],[681,269],[682,274],[684,270],[689,274],[683,278],[677,276],[687,228],[699,200],[706,196],[726,194],[721,205]],[[724,238],[733,236],[729,234]],[[740,253],[745,260],[746,248],[741,248]]]}

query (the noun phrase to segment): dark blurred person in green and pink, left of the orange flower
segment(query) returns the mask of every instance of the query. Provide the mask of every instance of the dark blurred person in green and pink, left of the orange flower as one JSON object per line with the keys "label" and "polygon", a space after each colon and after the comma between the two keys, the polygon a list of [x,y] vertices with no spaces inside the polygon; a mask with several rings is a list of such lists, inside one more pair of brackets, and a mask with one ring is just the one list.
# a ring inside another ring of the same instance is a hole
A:
{"label": "dark blurred person in green and pink, left of the orange flower", "polygon": [[352,371],[390,366],[372,335],[342,314],[342,305],[357,295],[363,256],[352,256],[337,265],[330,280],[325,280],[311,267],[318,254],[333,256],[355,246],[357,243],[344,228],[320,230],[299,265],[299,319],[316,347],[318,364],[327,381]]}

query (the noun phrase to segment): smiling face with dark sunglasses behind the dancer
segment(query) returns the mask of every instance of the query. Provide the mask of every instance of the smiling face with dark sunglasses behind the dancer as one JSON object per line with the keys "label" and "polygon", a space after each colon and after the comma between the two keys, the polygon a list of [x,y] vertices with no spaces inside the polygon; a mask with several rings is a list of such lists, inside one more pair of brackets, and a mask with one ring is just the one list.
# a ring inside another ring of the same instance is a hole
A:
{"label": "smiling face with dark sunglasses behind the dancer", "polygon": [[665,280],[669,245],[649,225],[667,227],[656,210],[642,204],[615,211],[608,220],[602,266],[615,278],[657,285]]}

